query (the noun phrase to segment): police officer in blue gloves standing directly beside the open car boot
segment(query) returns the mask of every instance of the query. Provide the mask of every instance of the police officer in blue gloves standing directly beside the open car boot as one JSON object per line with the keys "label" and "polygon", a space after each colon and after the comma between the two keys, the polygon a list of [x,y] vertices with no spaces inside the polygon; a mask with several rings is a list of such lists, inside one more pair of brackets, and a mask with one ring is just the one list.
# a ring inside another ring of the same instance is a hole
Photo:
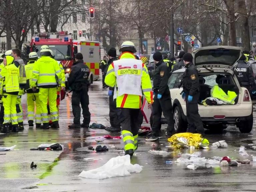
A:
{"label": "police officer in blue gloves standing directly beside the open car boot", "polygon": [[[199,77],[198,71],[193,62],[193,56],[186,53],[183,56],[186,71],[183,74],[183,93],[182,98],[186,98],[188,132],[200,133],[204,135],[204,127],[198,113],[199,100]],[[196,130],[195,130],[196,128]]]}

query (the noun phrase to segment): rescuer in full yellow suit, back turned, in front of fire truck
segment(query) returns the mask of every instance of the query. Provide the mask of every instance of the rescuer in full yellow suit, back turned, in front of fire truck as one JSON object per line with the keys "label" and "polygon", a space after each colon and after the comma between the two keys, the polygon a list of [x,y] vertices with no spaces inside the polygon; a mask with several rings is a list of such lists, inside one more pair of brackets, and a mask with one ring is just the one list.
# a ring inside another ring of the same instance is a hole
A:
{"label": "rescuer in full yellow suit, back turned, in front of fire truck", "polygon": [[[61,84],[61,71],[56,60],[51,58],[47,45],[41,46],[41,57],[35,62],[32,73],[31,87],[33,91],[39,87],[39,100],[43,129],[49,129],[47,102],[51,113],[51,120],[55,128],[59,128],[59,117],[56,107],[57,90]],[[37,86],[36,86],[37,85]],[[62,87],[65,89],[65,87]]]}

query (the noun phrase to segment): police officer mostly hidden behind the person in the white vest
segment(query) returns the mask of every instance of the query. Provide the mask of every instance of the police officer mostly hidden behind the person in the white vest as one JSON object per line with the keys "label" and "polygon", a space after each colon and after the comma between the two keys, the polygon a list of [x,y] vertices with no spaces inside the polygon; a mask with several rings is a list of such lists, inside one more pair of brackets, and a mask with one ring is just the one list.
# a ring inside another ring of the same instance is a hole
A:
{"label": "police officer mostly hidden behind the person in the white vest", "polygon": [[[116,49],[114,47],[111,47],[109,49],[108,58],[109,60],[107,63],[107,67],[105,68],[104,74],[107,74],[109,65],[111,65],[113,61],[118,60],[116,57]],[[120,121],[117,115],[117,112],[119,110],[116,108],[116,99],[114,99],[114,87],[109,87],[108,95],[109,95],[109,119],[110,119],[111,127],[106,128],[105,130],[109,132],[120,132],[121,126],[120,126]]]}

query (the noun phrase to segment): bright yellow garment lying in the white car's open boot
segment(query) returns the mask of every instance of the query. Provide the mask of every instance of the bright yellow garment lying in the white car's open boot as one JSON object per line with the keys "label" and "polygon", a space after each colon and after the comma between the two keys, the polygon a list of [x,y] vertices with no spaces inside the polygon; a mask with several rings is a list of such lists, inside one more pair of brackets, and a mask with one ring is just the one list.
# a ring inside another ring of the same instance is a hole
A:
{"label": "bright yellow garment lying in the white car's open boot", "polygon": [[211,97],[234,105],[237,94],[234,91],[228,91],[228,94],[226,94],[218,85],[214,85],[211,89]]}

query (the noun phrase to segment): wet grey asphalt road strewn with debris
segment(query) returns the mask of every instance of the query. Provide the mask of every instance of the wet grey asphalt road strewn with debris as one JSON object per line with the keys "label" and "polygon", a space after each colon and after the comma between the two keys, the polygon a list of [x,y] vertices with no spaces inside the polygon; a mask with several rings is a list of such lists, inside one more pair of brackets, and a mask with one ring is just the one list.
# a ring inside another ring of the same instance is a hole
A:
{"label": "wet grey asphalt road strewn with debris", "polygon": [[[186,165],[166,164],[166,160],[176,160],[178,153],[189,153],[189,150],[172,152],[168,156],[153,155],[149,150],[168,150],[166,138],[157,142],[146,142],[139,138],[139,149],[132,163],[143,166],[141,173],[126,177],[115,177],[104,180],[92,180],[78,177],[82,170],[98,168],[110,158],[116,157],[123,147],[121,140],[105,140],[96,142],[96,137],[109,134],[105,130],[68,129],[72,124],[71,94],[61,102],[60,129],[32,129],[18,134],[0,135],[0,147],[17,145],[14,151],[0,152],[0,191],[87,191],[87,192],[131,192],[131,191],[174,191],[174,192],[219,192],[219,191],[256,191],[256,162],[238,167],[199,167],[188,170]],[[90,87],[91,123],[101,123],[108,126],[108,96],[107,89],[101,88],[101,82],[94,82]],[[22,107],[26,110],[26,98],[23,97]],[[254,110],[255,111],[255,110]],[[24,116],[24,122],[27,122]],[[146,124],[145,124],[146,125]],[[256,124],[255,124],[256,125]],[[206,138],[212,142],[226,140],[227,149],[200,150],[202,157],[229,156],[234,159],[250,159],[239,155],[240,145],[248,146],[256,141],[255,125],[250,134],[241,134],[234,126],[228,127],[222,133],[209,132]],[[163,126],[165,127],[165,126]],[[120,134],[111,134],[118,136]],[[41,143],[60,143],[65,146],[63,151],[30,151]],[[115,145],[110,148],[109,144]],[[96,153],[89,151],[89,145],[106,145],[108,152]],[[256,151],[246,149],[249,155]],[[85,161],[84,158],[102,158],[103,160]],[[37,168],[31,169],[34,161]]]}

